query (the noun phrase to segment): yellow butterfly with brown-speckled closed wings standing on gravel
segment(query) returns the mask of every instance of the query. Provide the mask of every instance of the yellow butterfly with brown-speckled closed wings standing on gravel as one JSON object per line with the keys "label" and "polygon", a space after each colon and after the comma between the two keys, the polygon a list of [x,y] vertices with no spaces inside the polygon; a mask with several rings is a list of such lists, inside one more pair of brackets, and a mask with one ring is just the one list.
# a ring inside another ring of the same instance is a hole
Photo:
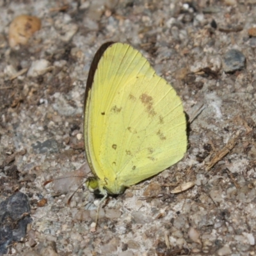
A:
{"label": "yellow butterfly with brown-speckled closed wings standing on gravel", "polygon": [[108,42],[96,52],[86,84],[84,145],[104,198],[177,163],[187,149],[180,97],[131,45]]}

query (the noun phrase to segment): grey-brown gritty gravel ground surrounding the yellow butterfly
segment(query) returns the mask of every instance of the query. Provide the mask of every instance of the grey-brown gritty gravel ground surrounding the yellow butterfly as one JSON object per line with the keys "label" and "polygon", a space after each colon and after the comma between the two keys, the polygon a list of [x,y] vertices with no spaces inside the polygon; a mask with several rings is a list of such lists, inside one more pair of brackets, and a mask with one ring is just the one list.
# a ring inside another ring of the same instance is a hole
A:
{"label": "grey-brown gritty gravel ground surrounding the yellow butterfly", "polygon": [[[26,194],[33,220],[10,253],[256,254],[255,0],[0,0],[0,8],[0,200]],[[21,14],[42,27],[11,49],[10,22]],[[108,41],[141,51],[191,124],[182,161],[110,196],[93,232],[100,198],[84,185],[67,199],[88,173],[84,89]],[[73,177],[43,186],[61,175]],[[171,193],[186,182],[195,186]]]}

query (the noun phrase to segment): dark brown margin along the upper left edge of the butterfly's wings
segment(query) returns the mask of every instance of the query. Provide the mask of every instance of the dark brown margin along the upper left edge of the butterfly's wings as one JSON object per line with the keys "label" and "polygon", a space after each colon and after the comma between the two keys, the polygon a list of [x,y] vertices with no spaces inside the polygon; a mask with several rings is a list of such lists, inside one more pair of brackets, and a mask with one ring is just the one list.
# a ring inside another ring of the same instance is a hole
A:
{"label": "dark brown margin along the upper left edge of the butterfly's wings", "polygon": [[92,88],[94,75],[97,70],[100,58],[102,57],[106,49],[108,49],[108,47],[112,44],[115,44],[115,42],[106,42],[102,44],[99,50],[94,55],[94,58],[92,60],[92,64],[88,73],[87,82],[86,82],[86,89],[85,89],[85,95],[84,95],[84,113],[86,108],[86,102],[88,100],[88,93],[89,93],[89,90]]}

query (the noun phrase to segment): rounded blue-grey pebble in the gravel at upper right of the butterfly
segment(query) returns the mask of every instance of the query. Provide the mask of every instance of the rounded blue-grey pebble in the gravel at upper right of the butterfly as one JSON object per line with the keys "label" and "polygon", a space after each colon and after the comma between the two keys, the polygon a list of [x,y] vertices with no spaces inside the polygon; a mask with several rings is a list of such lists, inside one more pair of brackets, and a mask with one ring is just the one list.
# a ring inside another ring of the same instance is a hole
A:
{"label": "rounded blue-grey pebble in the gravel at upper right of the butterfly", "polygon": [[223,70],[225,72],[234,72],[244,68],[245,56],[243,52],[236,49],[227,51],[223,58]]}

